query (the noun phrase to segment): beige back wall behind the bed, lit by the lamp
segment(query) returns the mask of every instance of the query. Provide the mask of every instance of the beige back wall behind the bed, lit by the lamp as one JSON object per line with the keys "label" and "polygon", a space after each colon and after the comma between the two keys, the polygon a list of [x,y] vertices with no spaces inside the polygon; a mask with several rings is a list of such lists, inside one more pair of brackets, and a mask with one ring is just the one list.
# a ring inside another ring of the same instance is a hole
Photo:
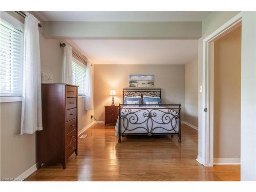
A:
{"label": "beige back wall behind the bed, lit by the lamp", "polygon": [[130,74],[154,74],[155,88],[162,89],[162,102],[181,103],[181,120],[184,120],[184,65],[95,65],[94,114],[98,121],[104,120],[104,105],[112,103],[111,88],[117,91],[115,104],[122,103],[122,89],[129,87]]}

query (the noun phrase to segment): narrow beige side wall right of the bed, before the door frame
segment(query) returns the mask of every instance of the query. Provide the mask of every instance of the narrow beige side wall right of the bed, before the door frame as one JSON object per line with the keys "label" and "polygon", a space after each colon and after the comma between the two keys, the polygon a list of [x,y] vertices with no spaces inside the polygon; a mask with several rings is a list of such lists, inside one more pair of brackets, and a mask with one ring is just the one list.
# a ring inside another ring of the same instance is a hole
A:
{"label": "narrow beige side wall right of the bed, before the door frame", "polygon": [[185,121],[198,127],[198,60],[185,65]]}

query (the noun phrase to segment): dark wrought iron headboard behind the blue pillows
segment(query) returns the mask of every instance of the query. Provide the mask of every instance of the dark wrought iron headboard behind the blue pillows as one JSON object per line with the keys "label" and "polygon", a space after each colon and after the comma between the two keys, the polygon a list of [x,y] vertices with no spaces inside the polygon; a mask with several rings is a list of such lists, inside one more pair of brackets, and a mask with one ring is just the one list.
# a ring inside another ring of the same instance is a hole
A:
{"label": "dark wrought iron headboard behind the blue pillows", "polygon": [[123,103],[124,97],[135,97],[135,96],[152,96],[152,97],[160,97],[161,99],[161,89],[160,88],[123,88]]}

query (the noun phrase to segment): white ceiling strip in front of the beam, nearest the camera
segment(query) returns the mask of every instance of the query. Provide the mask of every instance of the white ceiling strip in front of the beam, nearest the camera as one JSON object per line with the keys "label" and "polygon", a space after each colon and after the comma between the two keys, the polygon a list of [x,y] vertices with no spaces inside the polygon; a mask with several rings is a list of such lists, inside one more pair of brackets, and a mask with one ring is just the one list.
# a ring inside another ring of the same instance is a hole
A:
{"label": "white ceiling strip in front of the beam, nearest the camera", "polygon": [[201,22],[209,11],[37,11],[43,21]]}

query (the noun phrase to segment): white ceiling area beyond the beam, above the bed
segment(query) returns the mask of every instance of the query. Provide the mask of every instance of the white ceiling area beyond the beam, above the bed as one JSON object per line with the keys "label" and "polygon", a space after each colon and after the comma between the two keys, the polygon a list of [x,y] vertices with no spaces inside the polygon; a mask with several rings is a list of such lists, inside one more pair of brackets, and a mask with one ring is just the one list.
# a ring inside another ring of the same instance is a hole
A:
{"label": "white ceiling area beyond the beam, above the bed", "polygon": [[198,57],[198,40],[75,39],[94,64],[184,65]]}

